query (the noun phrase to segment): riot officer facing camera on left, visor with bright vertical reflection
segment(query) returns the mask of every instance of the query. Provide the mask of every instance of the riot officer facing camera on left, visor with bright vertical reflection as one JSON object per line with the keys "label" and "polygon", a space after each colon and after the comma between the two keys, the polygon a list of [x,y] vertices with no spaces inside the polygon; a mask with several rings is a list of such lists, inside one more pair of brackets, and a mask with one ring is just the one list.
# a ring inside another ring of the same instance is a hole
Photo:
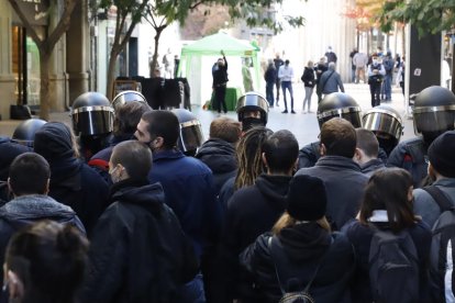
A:
{"label": "riot officer facing camera on left, visor with bright vertical reflection", "polygon": [[104,94],[89,91],[73,103],[73,130],[79,136],[81,155],[90,159],[107,146],[113,128],[114,110]]}

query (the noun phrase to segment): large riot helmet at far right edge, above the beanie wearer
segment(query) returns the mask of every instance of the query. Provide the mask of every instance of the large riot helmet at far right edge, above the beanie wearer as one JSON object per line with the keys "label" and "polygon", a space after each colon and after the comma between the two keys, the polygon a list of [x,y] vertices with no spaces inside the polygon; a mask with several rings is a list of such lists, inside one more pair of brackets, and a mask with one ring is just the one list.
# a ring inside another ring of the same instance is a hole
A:
{"label": "large riot helmet at far right edge, above the beanie wearer", "polygon": [[431,144],[440,134],[453,131],[455,124],[455,94],[443,87],[429,87],[415,97],[414,133]]}

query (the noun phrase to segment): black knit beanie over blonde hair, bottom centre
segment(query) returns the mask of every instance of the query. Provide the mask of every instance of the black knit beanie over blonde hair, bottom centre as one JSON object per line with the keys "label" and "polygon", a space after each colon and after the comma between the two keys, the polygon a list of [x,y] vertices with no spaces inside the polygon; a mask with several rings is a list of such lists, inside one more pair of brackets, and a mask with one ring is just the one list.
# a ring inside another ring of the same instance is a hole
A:
{"label": "black knit beanie over blonde hair, bottom centre", "polygon": [[298,221],[317,221],[325,215],[325,186],[319,178],[299,175],[289,183],[289,215]]}

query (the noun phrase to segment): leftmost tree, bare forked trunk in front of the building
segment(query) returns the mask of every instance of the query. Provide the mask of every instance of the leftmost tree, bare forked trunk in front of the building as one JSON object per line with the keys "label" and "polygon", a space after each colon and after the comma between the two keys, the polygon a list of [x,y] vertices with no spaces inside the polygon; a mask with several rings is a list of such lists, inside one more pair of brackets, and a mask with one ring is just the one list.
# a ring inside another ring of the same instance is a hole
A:
{"label": "leftmost tree, bare forked trunk in front of the building", "polygon": [[[51,56],[54,52],[54,47],[57,42],[60,40],[62,35],[68,30],[70,16],[73,10],[76,7],[78,0],[64,0],[63,12],[58,13],[58,7],[55,2],[49,5],[49,9],[46,12],[47,19],[51,16],[59,15],[59,21],[55,27],[48,29],[47,35],[40,37],[35,31],[35,27],[27,20],[26,15],[20,7],[20,1],[18,0],[8,0],[22,21],[23,26],[25,27],[27,34],[36,44],[36,47],[40,53],[40,117],[43,120],[48,120],[49,117],[49,108],[51,108],[51,94],[49,94],[49,63]],[[51,22],[49,22],[51,24]]]}

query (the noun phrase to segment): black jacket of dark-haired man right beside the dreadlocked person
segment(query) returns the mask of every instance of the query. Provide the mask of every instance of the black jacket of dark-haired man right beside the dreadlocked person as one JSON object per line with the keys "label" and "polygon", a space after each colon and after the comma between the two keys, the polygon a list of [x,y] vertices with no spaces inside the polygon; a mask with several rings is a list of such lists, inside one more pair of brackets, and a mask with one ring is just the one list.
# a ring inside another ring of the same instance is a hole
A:
{"label": "black jacket of dark-haired man right beside the dreadlocked person", "polygon": [[222,260],[219,274],[224,288],[224,293],[220,291],[221,298],[237,298],[244,292],[242,288],[246,283],[242,281],[243,274],[238,273],[238,254],[257,236],[270,231],[281,216],[290,179],[260,175],[254,186],[235,191],[229,200],[219,249]]}

